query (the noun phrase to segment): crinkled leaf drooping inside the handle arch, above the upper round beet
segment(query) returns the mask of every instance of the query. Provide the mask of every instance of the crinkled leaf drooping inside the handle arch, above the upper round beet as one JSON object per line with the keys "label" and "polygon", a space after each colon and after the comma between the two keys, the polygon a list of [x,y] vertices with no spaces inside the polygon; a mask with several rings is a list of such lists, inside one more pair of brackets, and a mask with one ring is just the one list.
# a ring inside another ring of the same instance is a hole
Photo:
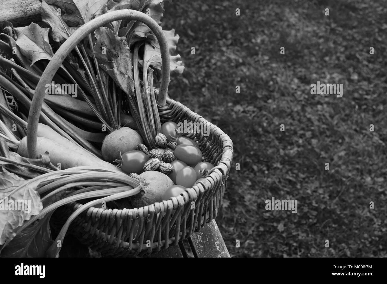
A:
{"label": "crinkled leaf drooping inside the handle arch, above the upper round beet", "polygon": [[99,28],[94,34],[97,38],[94,53],[99,66],[125,93],[131,94],[134,92],[134,82],[128,44],[106,27]]}

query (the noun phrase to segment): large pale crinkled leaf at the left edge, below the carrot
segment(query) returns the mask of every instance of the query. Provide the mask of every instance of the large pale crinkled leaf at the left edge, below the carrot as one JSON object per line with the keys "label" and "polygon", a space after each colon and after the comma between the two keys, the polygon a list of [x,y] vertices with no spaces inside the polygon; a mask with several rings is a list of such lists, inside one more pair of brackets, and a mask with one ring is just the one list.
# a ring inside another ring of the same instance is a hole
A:
{"label": "large pale crinkled leaf at the left edge, below the carrot", "polygon": [[[3,245],[5,241],[14,238],[14,229],[38,214],[43,205],[35,191],[38,181],[28,183],[18,175],[6,171],[0,172],[0,180],[0,245]],[[19,186],[19,190],[8,196],[8,192]]]}

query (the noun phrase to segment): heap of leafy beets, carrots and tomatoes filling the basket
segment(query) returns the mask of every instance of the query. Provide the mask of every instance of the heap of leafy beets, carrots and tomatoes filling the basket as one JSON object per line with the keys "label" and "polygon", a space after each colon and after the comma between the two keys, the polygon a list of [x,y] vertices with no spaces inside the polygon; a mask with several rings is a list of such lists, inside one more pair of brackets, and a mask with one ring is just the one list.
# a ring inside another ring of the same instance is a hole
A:
{"label": "heap of leafy beets, carrots and tomatoes filling the basket", "polygon": [[[90,207],[168,200],[214,168],[202,161],[205,145],[178,133],[175,122],[161,125],[170,72],[184,69],[173,55],[179,36],[159,26],[162,0],[44,0],[41,9],[40,23],[0,22],[5,257],[57,257],[70,223]],[[148,24],[109,21],[127,9]],[[53,212],[74,201],[83,205],[52,240]]]}

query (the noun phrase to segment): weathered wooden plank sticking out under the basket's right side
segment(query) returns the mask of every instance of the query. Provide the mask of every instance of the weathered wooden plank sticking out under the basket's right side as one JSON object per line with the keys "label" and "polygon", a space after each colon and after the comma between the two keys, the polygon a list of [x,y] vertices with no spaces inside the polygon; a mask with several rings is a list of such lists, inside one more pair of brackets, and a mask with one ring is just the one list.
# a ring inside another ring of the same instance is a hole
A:
{"label": "weathered wooden plank sticking out under the basket's right side", "polygon": [[215,220],[205,224],[199,232],[192,234],[188,240],[195,257],[230,257]]}

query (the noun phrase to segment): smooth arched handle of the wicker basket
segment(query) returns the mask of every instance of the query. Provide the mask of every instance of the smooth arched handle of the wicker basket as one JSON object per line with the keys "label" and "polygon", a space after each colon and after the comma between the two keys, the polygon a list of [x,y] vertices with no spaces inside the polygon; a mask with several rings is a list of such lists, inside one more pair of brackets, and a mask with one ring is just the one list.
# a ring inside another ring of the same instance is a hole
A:
{"label": "smooth arched handle of the wicker basket", "polygon": [[165,106],[166,94],[168,92],[168,85],[170,81],[170,54],[168,49],[168,42],[161,27],[151,17],[136,10],[116,10],[100,15],[95,19],[87,22],[86,24],[80,26],[79,29],[74,32],[74,34],[68,37],[68,39],[62,44],[62,46],[60,46],[60,48],[48,63],[38,82],[38,85],[36,86],[35,94],[28,114],[27,152],[29,158],[38,157],[38,122],[43,100],[46,95],[46,84],[52,81],[55,73],[58,71],[60,65],[62,65],[67,55],[75,48],[75,46],[77,46],[78,43],[80,43],[80,41],[82,41],[85,36],[95,31],[99,27],[104,26],[105,24],[123,19],[137,20],[146,24],[159,41],[162,69],[158,104],[161,107]]}

